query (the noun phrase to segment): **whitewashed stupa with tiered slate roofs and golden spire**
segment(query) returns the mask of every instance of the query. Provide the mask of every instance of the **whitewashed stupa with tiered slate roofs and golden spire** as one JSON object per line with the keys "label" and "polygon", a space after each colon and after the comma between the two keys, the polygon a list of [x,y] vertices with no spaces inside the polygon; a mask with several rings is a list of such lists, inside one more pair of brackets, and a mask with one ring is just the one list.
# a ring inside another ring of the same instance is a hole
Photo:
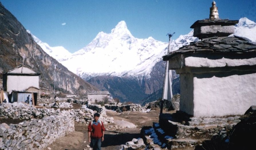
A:
{"label": "whitewashed stupa with tiered slate roofs and golden spire", "polygon": [[210,19],[191,28],[199,41],[163,57],[180,75],[180,110],[194,117],[243,115],[256,105],[256,43],[232,35],[237,20]]}

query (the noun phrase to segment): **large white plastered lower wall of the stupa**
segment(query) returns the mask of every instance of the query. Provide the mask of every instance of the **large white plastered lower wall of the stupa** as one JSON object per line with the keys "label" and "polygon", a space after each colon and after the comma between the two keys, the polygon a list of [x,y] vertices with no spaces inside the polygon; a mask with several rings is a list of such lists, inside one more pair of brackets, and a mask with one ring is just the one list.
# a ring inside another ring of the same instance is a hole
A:
{"label": "large white plastered lower wall of the stupa", "polygon": [[256,105],[256,73],[194,77],[194,117],[243,115]]}

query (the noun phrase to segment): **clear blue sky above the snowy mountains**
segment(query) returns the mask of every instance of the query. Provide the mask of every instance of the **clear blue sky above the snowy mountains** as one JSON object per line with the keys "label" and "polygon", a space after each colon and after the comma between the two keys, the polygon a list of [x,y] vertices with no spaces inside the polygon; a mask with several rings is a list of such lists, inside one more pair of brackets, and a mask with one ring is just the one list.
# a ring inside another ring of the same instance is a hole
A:
{"label": "clear blue sky above the snowy mountains", "polygon": [[[85,47],[100,32],[110,33],[124,20],[137,38],[167,42],[191,31],[197,20],[209,18],[212,0],[0,0],[32,34],[50,46],[71,53]],[[255,0],[216,0],[222,19],[241,17],[256,22]]]}

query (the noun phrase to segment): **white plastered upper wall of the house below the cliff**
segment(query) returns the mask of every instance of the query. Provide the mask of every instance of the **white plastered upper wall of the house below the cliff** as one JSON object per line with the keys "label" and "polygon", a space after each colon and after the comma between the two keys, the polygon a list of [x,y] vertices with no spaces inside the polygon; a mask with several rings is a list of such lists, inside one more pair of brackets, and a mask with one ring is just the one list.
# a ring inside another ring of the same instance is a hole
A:
{"label": "white plastered upper wall of the house below the cliff", "polygon": [[29,87],[39,88],[39,76],[7,76],[7,92],[24,91]]}

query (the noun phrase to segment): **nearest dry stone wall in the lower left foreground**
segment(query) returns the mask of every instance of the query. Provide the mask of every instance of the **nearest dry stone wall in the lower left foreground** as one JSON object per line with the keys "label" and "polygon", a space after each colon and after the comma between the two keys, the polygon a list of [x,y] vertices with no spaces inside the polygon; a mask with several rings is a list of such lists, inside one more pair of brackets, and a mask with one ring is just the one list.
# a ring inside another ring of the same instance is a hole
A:
{"label": "nearest dry stone wall in the lower left foreground", "polygon": [[72,115],[62,112],[19,124],[0,124],[0,149],[43,149],[58,137],[74,131]]}

